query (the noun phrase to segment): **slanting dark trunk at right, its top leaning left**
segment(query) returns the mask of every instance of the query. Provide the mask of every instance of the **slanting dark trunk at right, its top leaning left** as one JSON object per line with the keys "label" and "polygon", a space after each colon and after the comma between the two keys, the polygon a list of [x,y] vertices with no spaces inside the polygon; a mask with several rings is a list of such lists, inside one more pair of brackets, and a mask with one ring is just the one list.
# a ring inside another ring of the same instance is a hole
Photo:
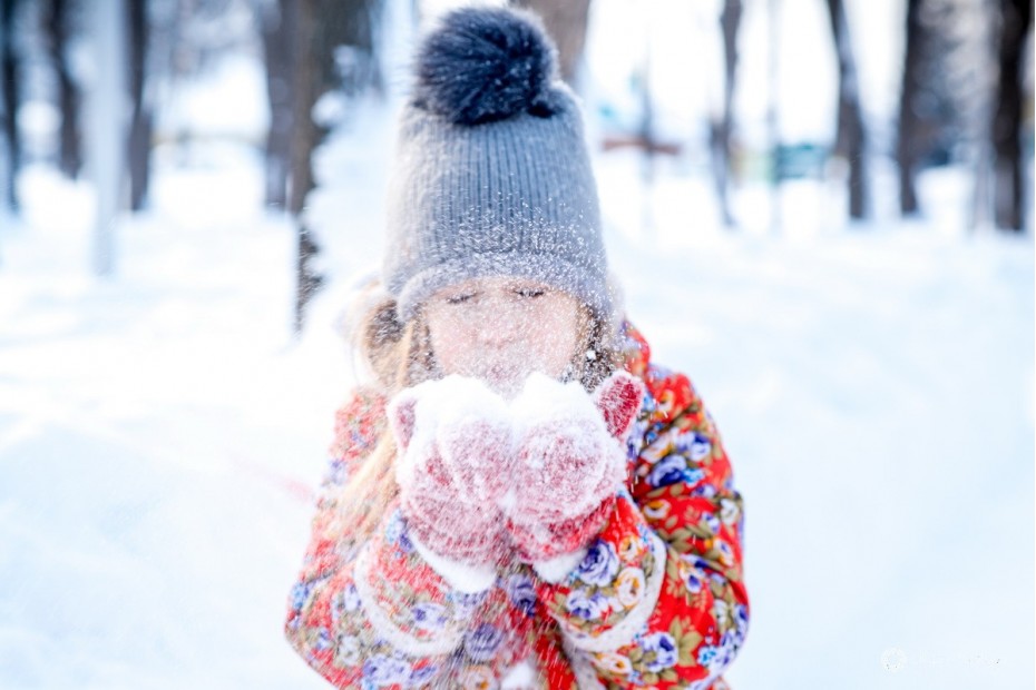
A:
{"label": "slanting dark trunk at right, its top leaning left", "polygon": [[849,161],[849,217],[860,220],[867,217],[867,134],[863,114],[860,110],[860,90],[856,60],[846,23],[842,0],[828,0],[831,16],[831,32],[838,56],[838,130],[834,137],[834,154]]}

